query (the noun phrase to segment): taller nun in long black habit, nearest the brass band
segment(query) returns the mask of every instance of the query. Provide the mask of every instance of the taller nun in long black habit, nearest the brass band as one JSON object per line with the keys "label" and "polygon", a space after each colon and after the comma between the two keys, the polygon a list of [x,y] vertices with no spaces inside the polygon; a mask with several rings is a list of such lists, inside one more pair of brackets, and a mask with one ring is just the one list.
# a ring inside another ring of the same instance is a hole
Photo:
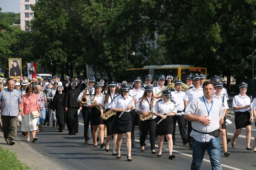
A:
{"label": "taller nun in long black habit, nearest the brass band", "polygon": [[78,115],[79,103],[77,98],[81,90],[77,87],[77,82],[71,82],[65,93],[65,110],[68,113],[67,127],[68,135],[75,135],[78,133]]}

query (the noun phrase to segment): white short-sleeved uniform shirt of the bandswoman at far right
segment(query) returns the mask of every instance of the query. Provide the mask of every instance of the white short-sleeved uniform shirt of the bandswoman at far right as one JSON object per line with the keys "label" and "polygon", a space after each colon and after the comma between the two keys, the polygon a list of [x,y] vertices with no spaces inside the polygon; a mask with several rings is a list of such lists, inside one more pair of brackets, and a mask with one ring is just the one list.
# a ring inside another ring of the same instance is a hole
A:
{"label": "white short-sleeved uniform shirt of the bandswoman at far right", "polygon": [[[232,107],[236,107],[236,106],[245,106],[245,105],[250,105],[251,104],[251,98],[249,98],[249,96],[245,95],[245,97],[241,96],[241,93],[239,93],[239,95],[236,95],[233,98],[233,103],[232,103]],[[249,111],[249,108],[241,108],[239,110],[235,110],[236,112],[246,112]]]}

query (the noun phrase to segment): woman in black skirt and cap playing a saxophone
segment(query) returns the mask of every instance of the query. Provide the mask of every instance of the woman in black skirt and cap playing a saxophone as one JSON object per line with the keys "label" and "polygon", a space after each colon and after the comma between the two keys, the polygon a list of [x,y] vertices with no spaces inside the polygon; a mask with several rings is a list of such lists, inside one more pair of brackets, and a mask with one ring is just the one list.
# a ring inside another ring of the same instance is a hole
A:
{"label": "woman in black skirt and cap playing a saxophone", "polygon": [[[101,118],[103,119],[104,114],[103,114],[103,107],[105,109],[106,112],[109,111],[110,107],[111,107],[111,103],[114,100],[114,98],[116,96],[118,96],[117,90],[116,90],[116,85],[117,82],[107,82],[108,84],[108,92],[106,95],[103,96],[101,104],[99,106],[100,112],[101,112]],[[113,135],[113,151],[112,151],[112,155],[116,156],[116,138],[117,138],[117,134],[116,134],[116,129],[115,129],[115,117],[116,115],[113,115],[111,117],[109,117],[107,120],[103,120],[103,123],[106,125],[107,127],[107,136],[106,136],[106,147],[105,147],[105,151],[108,152],[109,151],[109,141]]]}

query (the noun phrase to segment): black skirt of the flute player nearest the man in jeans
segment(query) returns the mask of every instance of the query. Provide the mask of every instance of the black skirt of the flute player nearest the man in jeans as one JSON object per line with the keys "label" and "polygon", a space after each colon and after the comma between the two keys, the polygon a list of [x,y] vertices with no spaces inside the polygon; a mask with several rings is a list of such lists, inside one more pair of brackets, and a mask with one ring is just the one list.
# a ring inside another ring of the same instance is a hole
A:
{"label": "black skirt of the flute player nearest the man in jeans", "polygon": [[[157,117],[157,122],[161,119],[160,116]],[[167,116],[166,119],[163,119],[160,123],[157,125],[157,132],[158,135],[167,135],[167,134],[173,134],[173,117]]]}

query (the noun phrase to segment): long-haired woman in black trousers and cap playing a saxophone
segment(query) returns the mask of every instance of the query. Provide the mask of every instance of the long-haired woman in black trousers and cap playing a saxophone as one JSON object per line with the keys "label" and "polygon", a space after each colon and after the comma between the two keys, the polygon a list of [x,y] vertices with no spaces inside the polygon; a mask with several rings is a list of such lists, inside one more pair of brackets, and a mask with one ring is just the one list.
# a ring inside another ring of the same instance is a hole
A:
{"label": "long-haired woman in black trousers and cap playing a saxophone", "polygon": [[[150,136],[150,148],[152,154],[156,154],[155,151],[155,131],[157,128],[157,119],[155,115],[152,114],[152,110],[155,106],[156,101],[154,100],[153,95],[153,86],[149,85],[145,87],[144,94],[142,98],[139,99],[137,104],[137,112],[140,113],[140,116],[152,116],[152,119],[147,119],[145,121],[140,121],[141,126],[141,135],[140,135],[140,151],[144,152],[145,140],[149,132]],[[139,111],[142,110],[142,111]]]}

